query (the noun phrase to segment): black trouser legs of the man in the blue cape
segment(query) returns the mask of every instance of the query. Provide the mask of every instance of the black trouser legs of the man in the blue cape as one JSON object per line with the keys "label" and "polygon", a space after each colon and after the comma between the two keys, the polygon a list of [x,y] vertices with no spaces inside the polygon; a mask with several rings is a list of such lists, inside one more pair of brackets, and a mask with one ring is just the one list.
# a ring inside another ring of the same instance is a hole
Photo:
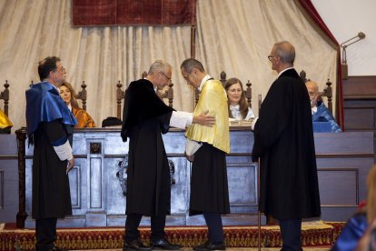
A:
{"label": "black trouser legs of the man in the blue cape", "polygon": [[54,248],[57,218],[43,218],[35,220],[36,251],[48,251]]}

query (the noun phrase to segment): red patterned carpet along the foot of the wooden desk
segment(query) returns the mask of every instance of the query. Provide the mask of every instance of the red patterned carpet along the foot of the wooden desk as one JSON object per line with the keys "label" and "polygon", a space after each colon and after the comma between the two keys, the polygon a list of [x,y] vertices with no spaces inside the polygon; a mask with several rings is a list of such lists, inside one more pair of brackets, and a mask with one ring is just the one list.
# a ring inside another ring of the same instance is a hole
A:
{"label": "red patterned carpet along the foot of the wooden desk", "polygon": [[[303,246],[331,246],[341,233],[344,223],[314,222],[303,223]],[[5,224],[0,229],[0,250],[32,250],[35,246],[34,229],[16,229],[15,224]],[[173,244],[196,246],[207,239],[207,228],[203,226],[166,227],[168,239]],[[141,238],[149,243],[150,228],[140,227]],[[74,249],[122,248],[124,228],[59,228],[57,246]],[[224,235],[228,247],[257,247],[257,226],[225,226]],[[264,247],[282,245],[278,226],[262,226],[261,241]]]}

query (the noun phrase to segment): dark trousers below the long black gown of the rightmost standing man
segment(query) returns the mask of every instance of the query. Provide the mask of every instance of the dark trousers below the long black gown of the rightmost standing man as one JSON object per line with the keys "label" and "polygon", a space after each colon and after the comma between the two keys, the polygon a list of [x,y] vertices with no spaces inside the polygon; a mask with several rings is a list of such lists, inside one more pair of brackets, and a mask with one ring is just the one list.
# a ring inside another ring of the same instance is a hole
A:
{"label": "dark trousers below the long black gown of the rightmost standing man", "polygon": [[302,250],[302,219],[278,220],[282,235],[282,250]]}

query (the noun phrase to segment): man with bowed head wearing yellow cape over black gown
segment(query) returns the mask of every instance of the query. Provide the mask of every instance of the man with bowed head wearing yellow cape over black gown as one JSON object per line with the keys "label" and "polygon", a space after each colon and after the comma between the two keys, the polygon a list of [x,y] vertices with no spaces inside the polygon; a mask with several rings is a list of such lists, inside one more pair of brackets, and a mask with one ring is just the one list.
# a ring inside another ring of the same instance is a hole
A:
{"label": "man with bowed head wearing yellow cape over black gown", "polygon": [[189,58],[181,65],[188,84],[201,92],[193,115],[209,111],[214,126],[191,125],[185,136],[185,155],[193,162],[190,216],[203,215],[208,226],[208,241],[193,250],[225,250],[221,214],[230,213],[225,155],[230,153],[227,95],[220,81],[207,75],[201,62]]}

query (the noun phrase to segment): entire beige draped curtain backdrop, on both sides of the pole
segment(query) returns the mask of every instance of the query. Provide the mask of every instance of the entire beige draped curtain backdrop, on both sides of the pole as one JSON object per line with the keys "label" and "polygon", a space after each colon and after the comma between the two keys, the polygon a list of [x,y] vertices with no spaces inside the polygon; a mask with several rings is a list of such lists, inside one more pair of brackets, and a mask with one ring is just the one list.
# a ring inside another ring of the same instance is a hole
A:
{"label": "entire beige draped curtain backdrop, on both sides of the pole", "polygon": [[[71,0],[0,1],[0,84],[5,80],[10,84],[13,131],[25,126],[25,90],[32,80],[39,82],[37,63],[47,55],[62,58],[67,81],[76,91],[85,81],[87,111],[98,126],[116,115],[117,81],[125,88],[156,59],[173,65],[174,108],[193,111],[193,89],[180,73],[181,63],[191,55],[190,26],[74,28],[71,4]],[[298,71],[304,69],[321,87],[327,78],[335,83],[335,50],[292,0],[198,0],[197,12],[196,57],[213,77],[219,78],[224,70],[244,85],[250,80],[253,107],[257,95],[264,97],[276,77],[266,56],[280,40],[295,45]]]}

